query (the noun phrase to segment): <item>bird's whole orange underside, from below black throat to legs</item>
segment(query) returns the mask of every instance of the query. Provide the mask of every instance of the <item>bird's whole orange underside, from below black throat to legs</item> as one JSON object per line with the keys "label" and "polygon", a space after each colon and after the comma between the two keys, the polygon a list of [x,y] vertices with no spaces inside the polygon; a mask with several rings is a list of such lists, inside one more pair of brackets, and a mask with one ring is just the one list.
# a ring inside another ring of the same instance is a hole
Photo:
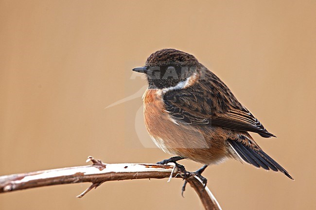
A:
{"label": "bird's whole orange underside, from below black throat to legs", "polygon": [[200,129],[171,118],[159,93],[147,90],[143,99],[146,129],[164,152],[204,164],[218,162],[227,156],[226,142],[212,141],[211,129]]}

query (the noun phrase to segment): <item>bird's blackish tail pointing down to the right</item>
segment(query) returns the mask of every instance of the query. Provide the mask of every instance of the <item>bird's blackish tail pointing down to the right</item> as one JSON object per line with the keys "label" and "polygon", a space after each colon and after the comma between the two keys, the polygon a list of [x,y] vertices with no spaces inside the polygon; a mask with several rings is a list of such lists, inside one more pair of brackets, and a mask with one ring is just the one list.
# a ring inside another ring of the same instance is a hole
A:
{"label": "bird's blackish tail pointing down to the right", "polygon": [[234,148],[238,155],[247,163],[264,168],[265,170],[281,171],[288,178],[294,179],[279,163],[274,161],[263,150],[254,150],[241,142],[228,140],[229,144]]}

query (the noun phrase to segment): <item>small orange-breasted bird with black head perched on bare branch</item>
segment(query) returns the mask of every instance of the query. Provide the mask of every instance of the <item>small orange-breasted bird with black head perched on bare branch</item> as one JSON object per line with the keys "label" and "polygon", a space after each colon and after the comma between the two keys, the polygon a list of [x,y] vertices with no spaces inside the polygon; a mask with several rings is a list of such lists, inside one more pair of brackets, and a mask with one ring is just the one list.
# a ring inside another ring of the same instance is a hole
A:
{"label": "small orange-breasted bird with black head perched on bare branch", "polygon": [[[231,158],[257,168],[291,175],[254,141],[249,132],[263,138],[276,137],[243,106],[211,70],[194,55],[164,48],[152,53],[144,66],[132,69],[146,75],[148,88],[142,99],[144,122],[154,143],[173,157],[158,162],[189,159],[204,164],[201,174],[212,164]],[[182,193],[185,190],[182,187]]]}

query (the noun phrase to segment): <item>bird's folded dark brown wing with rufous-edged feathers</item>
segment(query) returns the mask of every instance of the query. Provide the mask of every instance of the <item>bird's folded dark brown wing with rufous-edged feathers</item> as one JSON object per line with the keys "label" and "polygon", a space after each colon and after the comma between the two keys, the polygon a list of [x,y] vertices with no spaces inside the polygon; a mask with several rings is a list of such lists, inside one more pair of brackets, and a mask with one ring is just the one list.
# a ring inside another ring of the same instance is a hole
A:
{"label": "bird's folded dark brown wing with rufous-edged feathers", "polygon": [[228,87],[213,73],[210,81],[200,81],[185,90],[164,95],[166,110],[176,119],[194,125],[209,125],[225,129],[251,131],[265,138],[274,136],[264,129]]}

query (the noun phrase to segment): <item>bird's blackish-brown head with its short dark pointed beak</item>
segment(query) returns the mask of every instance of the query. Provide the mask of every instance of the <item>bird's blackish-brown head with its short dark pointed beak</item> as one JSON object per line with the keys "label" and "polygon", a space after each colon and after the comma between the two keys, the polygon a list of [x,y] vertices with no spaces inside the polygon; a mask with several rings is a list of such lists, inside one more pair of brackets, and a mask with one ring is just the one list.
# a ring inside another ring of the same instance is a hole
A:
{"label": "bird's blackish-brown head with its short dark pointed beak", "polygon": [[198,65],[193,55],[168,48],[154,52],[147,58],[146,65],[133,71],[146,74],[150,88],[164,89],[185,82],[196,72]]}

